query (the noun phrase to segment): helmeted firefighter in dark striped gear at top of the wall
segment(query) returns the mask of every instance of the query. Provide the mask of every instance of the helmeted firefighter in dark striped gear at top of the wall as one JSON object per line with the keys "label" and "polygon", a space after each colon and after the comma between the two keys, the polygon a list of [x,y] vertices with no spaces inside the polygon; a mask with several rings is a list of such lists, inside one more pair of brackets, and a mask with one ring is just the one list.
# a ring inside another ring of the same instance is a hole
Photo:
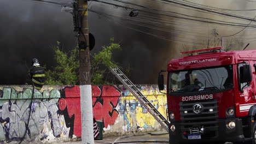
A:
{"label": "helmeted firefighter in dark striped gear at top of the wall", "polygon": [[34,88],[40,90],[45,82],[45,71],[40,66],[37,58],[33,58],[31,61],[31,68],[27,76],[26,84],[33,85]]}

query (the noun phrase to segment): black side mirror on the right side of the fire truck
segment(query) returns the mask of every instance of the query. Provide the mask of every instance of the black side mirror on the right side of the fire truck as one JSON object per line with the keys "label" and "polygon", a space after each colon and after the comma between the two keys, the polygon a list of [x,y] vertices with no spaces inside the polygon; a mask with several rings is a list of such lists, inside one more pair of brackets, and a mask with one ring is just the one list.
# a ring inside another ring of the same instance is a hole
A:
{"label": "black side mirror on the right side of the fire truck", "polygon": [[251,82],[252,81],[252,68],[251,65],[246,64],[240,67],[240,82]]}

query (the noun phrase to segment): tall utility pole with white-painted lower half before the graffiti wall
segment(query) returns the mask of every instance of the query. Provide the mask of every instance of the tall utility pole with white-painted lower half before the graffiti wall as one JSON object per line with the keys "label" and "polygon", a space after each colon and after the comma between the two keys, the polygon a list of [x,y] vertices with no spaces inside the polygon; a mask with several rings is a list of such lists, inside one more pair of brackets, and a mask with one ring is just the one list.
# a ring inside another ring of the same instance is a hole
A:
{"label": "tall utility pole with white-painted lower half before the graffiti wall", "polygon": [[78,11],[78,18],[81,23],[81,27],[78,31],[78,38],[82,144],[94,144],[87,0],[78,0]]}

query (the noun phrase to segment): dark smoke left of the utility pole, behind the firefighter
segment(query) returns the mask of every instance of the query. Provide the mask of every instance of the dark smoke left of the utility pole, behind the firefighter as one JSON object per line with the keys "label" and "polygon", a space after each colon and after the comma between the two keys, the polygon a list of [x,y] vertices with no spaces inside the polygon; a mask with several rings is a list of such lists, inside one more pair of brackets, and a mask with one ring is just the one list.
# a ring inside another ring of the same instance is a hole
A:
{"label": "dark smoke left of the utility pole, behind the firefighter", "polygon": [[[30,1],[0,1],[0,83],[23,84],[32,58],[53,66],[52,45],[75,45],[72,15],[61,7]],[[26,67],[27,65],[27,67]]]}

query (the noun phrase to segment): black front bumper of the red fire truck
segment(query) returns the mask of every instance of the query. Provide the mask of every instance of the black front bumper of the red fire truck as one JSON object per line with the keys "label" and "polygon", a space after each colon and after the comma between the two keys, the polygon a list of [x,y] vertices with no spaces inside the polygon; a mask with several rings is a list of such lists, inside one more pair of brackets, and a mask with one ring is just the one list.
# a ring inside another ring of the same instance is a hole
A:
{"label": "black front bumper of the red fire truck", "polygon": [[[229,122],[235,122],[236,127],[233,129],[228,128]],[[199,122],[200,123],[200,122]],[[171,125],[175,126],[175,130],[170,129]],[[242,119],[218,119],[217,127],[205,127],[205,133],[200,134],[201,139],[189,140],[188,128],[182,127],[180,121],[171,122],[169,125],[170,143],[201,143],[201,142],[242,142],[246,141],[243,135]],[[198,126],[198,125],[197,125]],[[193,126],[196,128],[197,126]],[[198,127],[197,127],[198,128]]]}

